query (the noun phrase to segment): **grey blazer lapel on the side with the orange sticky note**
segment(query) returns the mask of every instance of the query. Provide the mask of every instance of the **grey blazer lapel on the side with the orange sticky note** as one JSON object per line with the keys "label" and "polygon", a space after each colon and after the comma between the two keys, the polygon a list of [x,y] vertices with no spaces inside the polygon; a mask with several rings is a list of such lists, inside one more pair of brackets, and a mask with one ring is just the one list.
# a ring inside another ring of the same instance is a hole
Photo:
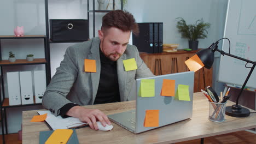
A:
{"label": "grey blazer lapel on the side with the orange sticky note", "polygon": [[88,59],[96,60],[96,73],[91,73],[91,84],[92,84],[92,104],[96,98],[98,91],[98,83],[100,82],[101,75],[101,60],[100,60],[100,39],[96,38],[91,45],[91,54],[88,55]]}

